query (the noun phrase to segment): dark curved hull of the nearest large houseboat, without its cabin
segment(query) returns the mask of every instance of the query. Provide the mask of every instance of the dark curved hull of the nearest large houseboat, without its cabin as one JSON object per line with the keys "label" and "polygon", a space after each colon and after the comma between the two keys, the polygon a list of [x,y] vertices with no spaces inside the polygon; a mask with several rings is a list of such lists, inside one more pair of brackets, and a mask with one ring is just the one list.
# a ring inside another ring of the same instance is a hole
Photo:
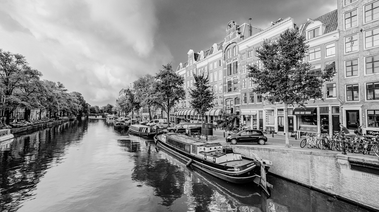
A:
{"label": "dark curved hull of the nearest large houseboat, without its cabin", "polygon": [[174,148],[169,144],[159,140],[157,136],[154,137],[154,140],[157,146],[166,152],[169,152],[170,154],[173,154],[184,161],[192,160],[190,163],[192,167],[195,167],[222,180],[236,184],[245,184],[254,181],[256,177],[260,176],[260,167],[255,164],[251,165],[250,167],[245,167],[243,170],[240,170],[238,172],[228,171],[227,169],[230,169],[232,167],[227,167],[222,164],[215,164],[213,162],[206,161],[202,158],[183,152],[180,149]]}

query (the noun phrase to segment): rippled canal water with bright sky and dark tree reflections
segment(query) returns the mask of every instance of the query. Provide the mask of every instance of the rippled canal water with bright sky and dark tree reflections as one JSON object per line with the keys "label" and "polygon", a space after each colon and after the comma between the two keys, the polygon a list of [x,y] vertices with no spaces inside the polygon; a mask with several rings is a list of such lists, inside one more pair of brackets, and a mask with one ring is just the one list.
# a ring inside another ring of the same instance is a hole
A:
{"label": "rippled canal water with bright sky and dark tree reflections", "polygon": [[[275,165],[275,164],[274,164]],[[268,198],[186,167],[101,119],[0,143],[1,212],[366,212],[281,178]]]}

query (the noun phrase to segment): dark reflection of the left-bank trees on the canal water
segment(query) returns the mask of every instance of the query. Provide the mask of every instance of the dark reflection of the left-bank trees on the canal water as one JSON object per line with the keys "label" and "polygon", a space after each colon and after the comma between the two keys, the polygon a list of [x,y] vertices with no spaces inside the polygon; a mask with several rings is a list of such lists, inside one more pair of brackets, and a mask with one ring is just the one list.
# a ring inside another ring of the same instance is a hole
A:
{"label": "dark reflection of the left-bank trees on the canal water", "polygon": [[[60,162],[67,142],[75,142],[85,132],[85,122],[66,122],[34,133],[15,135],[0,144],[0,211],[14,212],[34,196],[33,191],[46,170]],[[54,135],[70,135],[57,140]]]}

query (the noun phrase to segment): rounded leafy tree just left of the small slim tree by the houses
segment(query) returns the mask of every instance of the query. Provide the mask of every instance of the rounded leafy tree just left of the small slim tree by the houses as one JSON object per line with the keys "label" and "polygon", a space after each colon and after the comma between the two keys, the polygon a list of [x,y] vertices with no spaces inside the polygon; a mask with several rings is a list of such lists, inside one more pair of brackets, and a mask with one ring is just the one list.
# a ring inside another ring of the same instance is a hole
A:
{"label": "rounded leafy tree just left of the small slim tree by the houses", "polygon": [[155,76],[154,90],[157,104],[167,112],[167,121],[170,120],[170,110],[175,102],[185,98],[183,89],[184,78],[173,71],[171,64],[163,65]]}

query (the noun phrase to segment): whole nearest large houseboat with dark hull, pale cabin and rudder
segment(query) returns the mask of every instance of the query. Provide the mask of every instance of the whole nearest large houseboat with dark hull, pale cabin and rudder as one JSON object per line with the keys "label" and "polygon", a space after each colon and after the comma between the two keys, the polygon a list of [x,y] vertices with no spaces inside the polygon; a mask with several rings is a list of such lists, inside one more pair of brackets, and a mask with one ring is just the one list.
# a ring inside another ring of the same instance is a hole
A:
{"label": "whole nearest large houseboat with dark hull, pale cabin and rudder", "polygon": [[220,143],[199,141],[176,133],[159,133],[154,137],[156,145],[210,175],[231,183],[254,182],[269,195],[266,173],[271,161],[262,160],[256,154],[250,159],[234,153],[229,146]]}

